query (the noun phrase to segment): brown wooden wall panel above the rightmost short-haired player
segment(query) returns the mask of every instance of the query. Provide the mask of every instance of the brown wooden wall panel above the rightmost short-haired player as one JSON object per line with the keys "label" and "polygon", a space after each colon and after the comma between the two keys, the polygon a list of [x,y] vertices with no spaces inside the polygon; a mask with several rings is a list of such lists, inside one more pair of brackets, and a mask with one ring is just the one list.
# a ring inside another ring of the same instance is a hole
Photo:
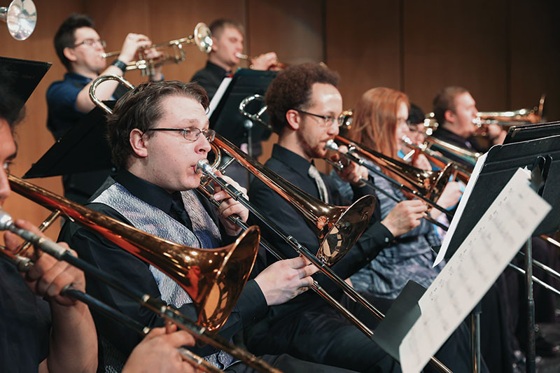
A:
{"label": "brown wooden wall panel above the rightmost short-haired player", "polygon": [[404,1],[402,90],[425,111],[447,85],[481,111],[507,104],[507,1]]}

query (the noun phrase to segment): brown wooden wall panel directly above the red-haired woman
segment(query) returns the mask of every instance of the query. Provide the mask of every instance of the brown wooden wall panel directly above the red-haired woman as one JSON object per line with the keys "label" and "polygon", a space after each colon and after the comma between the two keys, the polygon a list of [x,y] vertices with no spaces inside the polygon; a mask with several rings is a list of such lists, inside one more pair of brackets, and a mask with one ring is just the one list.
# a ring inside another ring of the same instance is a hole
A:
{"label": "brown wooden wall panel directly above the red-haired woman", "polygon": [[400,87],[399,2],[327,0],[325,62],[342,77],[344,107],[372,87]]}

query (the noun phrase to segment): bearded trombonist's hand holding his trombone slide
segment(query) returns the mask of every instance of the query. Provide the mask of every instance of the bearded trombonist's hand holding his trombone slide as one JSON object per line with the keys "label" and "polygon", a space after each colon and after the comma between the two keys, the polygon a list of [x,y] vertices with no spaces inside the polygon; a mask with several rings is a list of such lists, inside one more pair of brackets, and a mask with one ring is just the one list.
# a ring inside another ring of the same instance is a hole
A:
{"label": "bearded trombonist's hand holding his trombone slide", "polygon": [[428,207],[419,199],[402,201],[389,211],[381,224],[398,237],[420,225],[420,219],[426,215]]}

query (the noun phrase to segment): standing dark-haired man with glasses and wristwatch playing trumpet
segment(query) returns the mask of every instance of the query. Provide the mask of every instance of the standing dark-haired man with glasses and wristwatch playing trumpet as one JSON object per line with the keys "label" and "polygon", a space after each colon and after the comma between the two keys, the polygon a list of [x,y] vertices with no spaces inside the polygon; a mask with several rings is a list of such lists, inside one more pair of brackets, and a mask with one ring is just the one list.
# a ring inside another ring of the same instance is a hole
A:
{"label": "standing dark-haired man with glasses and wristwatch playing trumpet", "polygon": [[[139,48],[152,45],[148,36],[128,34],[120,55],[106,66],[102,56],[105,41],[94,29],[94,22],[83,14],[73,13],[60,25],[54,39],[55,50],[60,62],[66,67],[64,80],[58,80],[47,90],[47,127],[55,140],[60,139],[94,108],[89,97],[91,82],[100,74],[123,75],[127,63],[134,60]],[[147,58],[160,54],[146,51]],[[153,77],[162,80],[161,66]],[[97,90],[102,100],[118,99],[123,94],[117,89],[116,81],[104,83]],[[85,203],[109,175],[109,170],[92,171],[63,176],[64,196],[78,203]]]}

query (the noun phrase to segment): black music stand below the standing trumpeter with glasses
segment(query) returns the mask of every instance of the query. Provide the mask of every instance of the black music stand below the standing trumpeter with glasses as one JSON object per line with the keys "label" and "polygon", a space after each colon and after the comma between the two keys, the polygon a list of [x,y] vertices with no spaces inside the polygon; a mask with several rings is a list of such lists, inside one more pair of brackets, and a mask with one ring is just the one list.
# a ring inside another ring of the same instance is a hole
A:
{"label": "black music stand below the standing trumpeter with glasses", "polygon": [[[106,101],[105,104],[113,108],[115,101]],[[23,178],[113,169],[106,134],[105,111],[96,107],[32,164]]]}

